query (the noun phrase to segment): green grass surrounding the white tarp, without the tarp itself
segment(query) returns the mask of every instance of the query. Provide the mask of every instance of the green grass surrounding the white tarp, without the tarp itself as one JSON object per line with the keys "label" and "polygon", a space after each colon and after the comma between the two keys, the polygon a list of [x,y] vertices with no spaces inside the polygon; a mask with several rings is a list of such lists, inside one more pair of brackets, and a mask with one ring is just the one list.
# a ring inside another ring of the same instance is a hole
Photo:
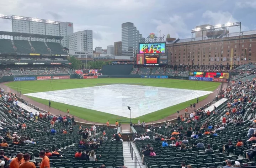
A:
{"label": "green grass surrounding the white tarp, without the tarp itself", "polygon": [[[176,80],[176,79],[133,79],[133,78],[101,78],[101,79],[68,79],[68,80],[42,80],[42,81],[22,81],[22,82],[10,82],[6,85],[17,91],[22,91],[22,94],[35,93],[35,92],[46,92],[56,91],[72,88],[92,87],[100,86],[105,84],[114,83],[126,83],[135,85],[155,86],[155,87],[168,87],[168,88],[181,88],[181,89],[192,89],[202,91],[214,91],[220,83],[218,82],[203,82],[203,81],[190,81],[190,80]],[[207,98],[208,95],[202,96],[199,100]],[[48,100],[30,97],[31,99],[48,105]],[[137,123],[138,120],[151,122],[165,118],[171,114],[174,114],[178,110],[182,110],[189,106],[190,102],[196,102],[196,99],[180,103],[159,111],[133,118],[132,122]],[[83,118],[92,122],[106,123],[110,120],[110,123],[114,123],[116,120],[119,122],[129,122],[130,119],[117,115],[108,114],[105,112],[80,108],[63,103],[52,102],[51,106],[61,111],[70,110],[70,114]],[[199,108],[199,106],[198,106]]]}

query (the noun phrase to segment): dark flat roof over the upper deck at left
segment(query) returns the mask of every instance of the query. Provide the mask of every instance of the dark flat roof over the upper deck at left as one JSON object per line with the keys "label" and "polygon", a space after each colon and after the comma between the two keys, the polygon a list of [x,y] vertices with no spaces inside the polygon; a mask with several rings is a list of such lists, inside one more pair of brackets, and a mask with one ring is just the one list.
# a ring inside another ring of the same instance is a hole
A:
{"label": "dark flat roof over the upper deck at left", "polygon": [[50,36],[50,35],[42,35],[42,34],[30,34],[30,33],[15,33],[10,31],[0,31],[0,35],[5,36],[19,36],[19,37],[35,37],[35,38],[42,38],[42,39],[56,39],[62,40],[62,36]]}

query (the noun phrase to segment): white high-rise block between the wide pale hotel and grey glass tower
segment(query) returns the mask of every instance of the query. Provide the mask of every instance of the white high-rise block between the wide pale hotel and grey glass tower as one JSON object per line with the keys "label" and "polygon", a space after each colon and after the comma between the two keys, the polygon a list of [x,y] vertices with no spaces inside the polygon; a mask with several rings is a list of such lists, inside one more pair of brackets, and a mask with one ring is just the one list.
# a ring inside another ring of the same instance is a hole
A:
{"label": "white high-rise block between the wide pale hotel and grey glass tower", "polygon": [[82,51],[93,56],[92,30],[78,31],[68,36],[69,50]]}

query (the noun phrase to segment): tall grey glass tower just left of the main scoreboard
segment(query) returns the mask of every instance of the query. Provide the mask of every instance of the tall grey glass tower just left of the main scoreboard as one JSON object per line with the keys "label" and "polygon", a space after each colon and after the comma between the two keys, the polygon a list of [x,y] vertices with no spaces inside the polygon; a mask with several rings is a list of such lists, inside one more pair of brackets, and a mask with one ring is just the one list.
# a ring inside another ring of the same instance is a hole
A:
{"label": "tall grey glass tower just left of the main scoreboard", "polygon": [[122,23],[122,56],[130,57],[133,60],[142,35],[131,22]]}

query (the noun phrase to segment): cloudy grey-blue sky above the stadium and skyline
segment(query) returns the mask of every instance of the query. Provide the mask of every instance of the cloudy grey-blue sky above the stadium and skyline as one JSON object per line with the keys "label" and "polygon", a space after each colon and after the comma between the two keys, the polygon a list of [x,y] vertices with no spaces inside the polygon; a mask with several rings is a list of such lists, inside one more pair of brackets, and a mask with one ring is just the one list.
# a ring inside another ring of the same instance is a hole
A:
{"label": "cloudy grey-blue sky above the stadium and skyline", "polygon": [[[180,39],[202,24],[241,22],[242,31],[256,29],[256,0],[0,0],[0,14],[73,22],[74,31],[93,30],[94,47],[103,49],[121,41],[125,22],[143,37],[161,30]],[[0,30],[11,31],[11,22],[0,19]]]}

